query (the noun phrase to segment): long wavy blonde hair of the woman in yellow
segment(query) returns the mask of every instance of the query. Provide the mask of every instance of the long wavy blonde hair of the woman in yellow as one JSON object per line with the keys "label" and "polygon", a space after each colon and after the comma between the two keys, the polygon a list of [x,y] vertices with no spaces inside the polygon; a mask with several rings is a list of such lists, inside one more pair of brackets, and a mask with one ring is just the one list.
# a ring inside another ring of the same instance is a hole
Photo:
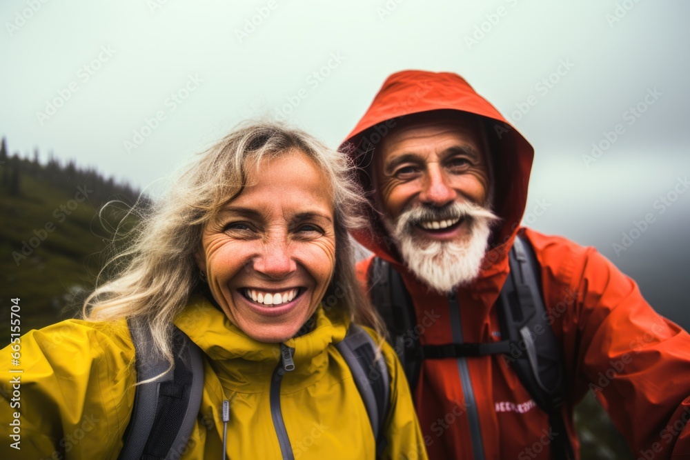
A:
{"label": "long wavy blonde hair of the woman in yellow", "polygon": [[[190,296],[204,292],[195,253],[201,232],[215,213],[237,197],[246,171],[263,160],[299,150],[313,159],[330,182],[335,209],[335,270],[322,299],[325,308],[342,308],[352,321],[382,332],[382,321],[364,296],[355,276],[349,230],[366,226],[367,205],[348,156],[324,146],[300,130],[270,122],[244,123],[201,152],[164,195],[128,232],[130,244],[106,263],[110,281],[85,299],[82,316],[89,321],[142,319],[152,330],[155,347],[172,368],[172,320]],[[324,188],[326,190],[326,188]],[[137,212],[131,210],[130,212]],[[105,269],[104,269],[105,270]],[[102,276],[99,274],[99,278]],[[207,295],[210,292],[206,291]]]}

